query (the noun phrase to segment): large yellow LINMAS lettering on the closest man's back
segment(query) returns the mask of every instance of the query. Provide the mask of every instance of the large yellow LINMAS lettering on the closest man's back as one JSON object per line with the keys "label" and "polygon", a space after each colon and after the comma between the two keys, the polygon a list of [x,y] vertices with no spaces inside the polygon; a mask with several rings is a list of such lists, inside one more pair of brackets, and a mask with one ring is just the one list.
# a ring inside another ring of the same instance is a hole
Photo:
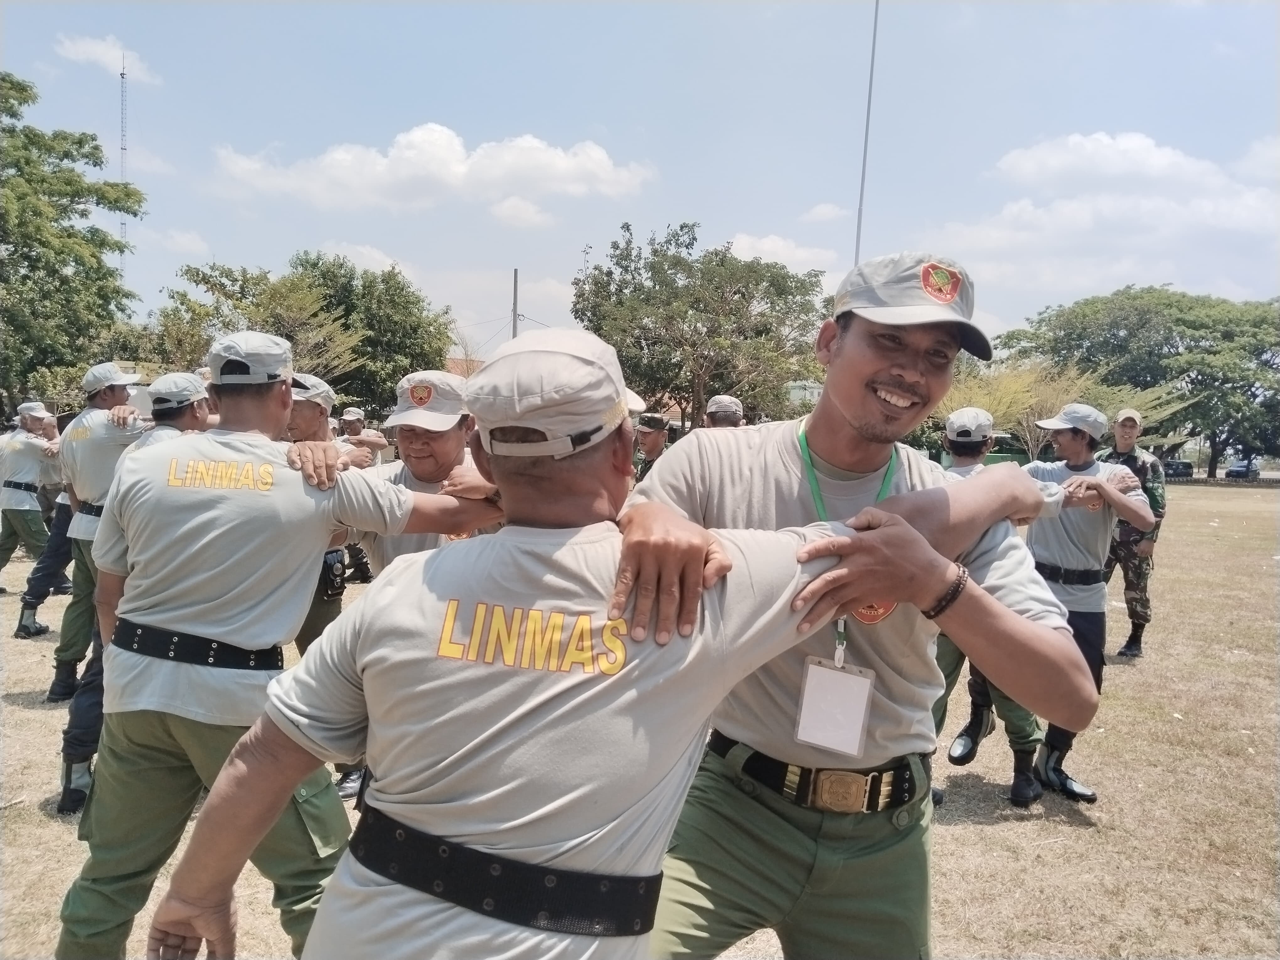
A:
{"label": "large yellow LINMAS lettering on the closest man's back", "polygon": [[[627,648],[622,643],[627,635],[625,620],[607,620],[596,631],[590,613],[515,607],[508,614],[500,604],[477,603],[465,641],[457,621],[458,602],[449,600],[436,649],[439,657],[490,664],[500,658],[507,667],[562,673],[571,672],[576,664],[584,673],[599,671],[604,676],[613,676],[627,662]],[[458,640],[453,639],[456,630]]]}

